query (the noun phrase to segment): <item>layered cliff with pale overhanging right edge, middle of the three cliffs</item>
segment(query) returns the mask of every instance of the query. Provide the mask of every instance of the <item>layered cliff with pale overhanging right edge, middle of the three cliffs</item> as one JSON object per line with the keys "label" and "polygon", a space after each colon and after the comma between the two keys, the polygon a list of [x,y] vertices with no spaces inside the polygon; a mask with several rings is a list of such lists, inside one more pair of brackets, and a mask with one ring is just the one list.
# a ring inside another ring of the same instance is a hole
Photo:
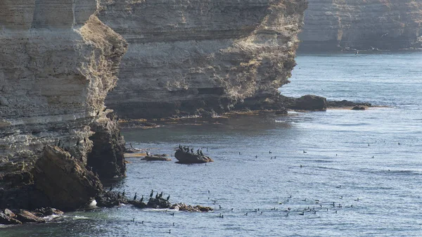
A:
{"label": "layered cliff with pale overhanging right edge, middle of the three cliffs", "polygon": [[106,105],[129,118],[223,112],[267,98],[295,65],[305,0],[101,0],[128,41]]}

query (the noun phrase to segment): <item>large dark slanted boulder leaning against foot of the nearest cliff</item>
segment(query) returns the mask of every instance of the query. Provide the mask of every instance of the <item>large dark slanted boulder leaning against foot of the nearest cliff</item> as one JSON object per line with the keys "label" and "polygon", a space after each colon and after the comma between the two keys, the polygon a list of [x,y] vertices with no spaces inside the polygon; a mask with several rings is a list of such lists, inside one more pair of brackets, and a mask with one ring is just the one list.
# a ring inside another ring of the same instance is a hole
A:
{"label": "large dark slanted boulder leaning against foot of the nearest cliff", "polygon": [[57,146],[46,146],[44,155],[34,167],[37,189],[46,194],[51,206],[75,210],[87,205],[103,191],[101,181]]}

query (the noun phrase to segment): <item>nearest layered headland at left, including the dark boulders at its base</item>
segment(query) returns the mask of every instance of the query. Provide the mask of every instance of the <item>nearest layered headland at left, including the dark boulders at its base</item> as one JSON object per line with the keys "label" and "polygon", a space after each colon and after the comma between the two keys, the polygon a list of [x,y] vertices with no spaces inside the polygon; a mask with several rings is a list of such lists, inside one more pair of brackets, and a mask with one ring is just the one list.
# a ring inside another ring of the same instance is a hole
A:
{"label": "nearest layered headland at left, including the dark boulders at its base", "polygon": [[75,210],[100,177],[124,175],[104,99],[127,43],[96,12],[95,0],[0,2],[1,209]]}

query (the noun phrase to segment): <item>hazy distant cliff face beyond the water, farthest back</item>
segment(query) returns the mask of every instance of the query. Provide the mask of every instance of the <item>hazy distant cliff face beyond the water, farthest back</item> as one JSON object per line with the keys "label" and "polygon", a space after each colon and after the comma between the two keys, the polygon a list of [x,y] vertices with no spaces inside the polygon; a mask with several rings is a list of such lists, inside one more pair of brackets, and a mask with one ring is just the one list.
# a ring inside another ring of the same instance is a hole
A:
{"label": "hazy distant cliff face beyond the water, farthest back", "polygon": [[309,0],[300,51],[421,47],[422,0]]}

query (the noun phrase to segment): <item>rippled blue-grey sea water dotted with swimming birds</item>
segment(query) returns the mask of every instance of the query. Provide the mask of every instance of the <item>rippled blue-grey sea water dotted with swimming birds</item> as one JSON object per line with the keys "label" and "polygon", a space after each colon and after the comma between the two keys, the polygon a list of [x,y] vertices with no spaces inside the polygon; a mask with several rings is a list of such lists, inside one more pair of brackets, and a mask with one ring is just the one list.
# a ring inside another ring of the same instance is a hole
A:
{"label": "rippled blue-grey sea water dotted with swimming birds", "polygon": [[115,190],[163,191],[172,203],[215,212],[97,208],[0,228],[0,236],[422,236],[422,52],[297,61],[282,94],[385,106],[124,130],[127,142],[150,153],[173,154],[180,143],[203,147],[215,162],[128,158]]}

